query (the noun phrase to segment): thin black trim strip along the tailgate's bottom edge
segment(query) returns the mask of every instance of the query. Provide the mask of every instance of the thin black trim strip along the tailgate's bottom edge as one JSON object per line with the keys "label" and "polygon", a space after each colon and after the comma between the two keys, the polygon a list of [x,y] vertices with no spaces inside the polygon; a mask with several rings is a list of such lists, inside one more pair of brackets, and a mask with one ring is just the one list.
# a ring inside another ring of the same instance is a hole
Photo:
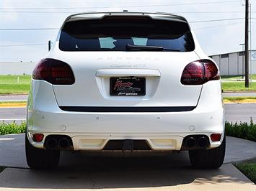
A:
{"label": "thin black trim strip along the tailgate's bottom edge", "polygon": [[60,106],[63,111],[78,112],[180,112],[192,111],[195,106],[186,107],[87,107],[87,106]]}

